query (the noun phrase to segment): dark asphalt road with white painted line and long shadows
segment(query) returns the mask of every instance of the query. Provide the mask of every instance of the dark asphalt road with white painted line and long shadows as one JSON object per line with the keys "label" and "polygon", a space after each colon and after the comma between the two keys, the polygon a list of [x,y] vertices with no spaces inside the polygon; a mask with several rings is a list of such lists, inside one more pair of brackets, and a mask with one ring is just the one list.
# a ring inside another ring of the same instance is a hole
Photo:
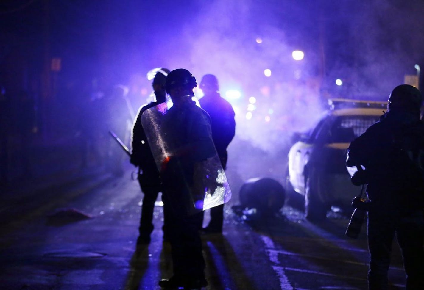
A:
{"label": "dark asphalt road with white painted line and long shadows", "polygon": [[[157,281],[172,274],[162,207],[155,209],[151,243],[137,247],[142,193],[130,175],[95,172],[26,193],[3,193],[0,289],[160,289]],[[234,192],[223,235],[203,236],[209,281],[204,289],[366,289],[365,228],[354,240],[344,235],[348,219],[338,213],[312,224],[293,204],[269,218],[243,214],[237,204]],[[58,211],[65,214],[52,216]],[[392,289],[404,286],[396,244],[389,279]]]}

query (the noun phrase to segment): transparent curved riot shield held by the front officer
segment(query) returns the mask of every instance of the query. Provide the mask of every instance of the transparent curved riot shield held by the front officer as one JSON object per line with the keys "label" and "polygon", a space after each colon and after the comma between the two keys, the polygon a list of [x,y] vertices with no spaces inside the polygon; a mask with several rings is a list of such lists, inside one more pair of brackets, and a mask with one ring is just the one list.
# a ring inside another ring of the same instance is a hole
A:
{"label": "transparent curved riot shield held by the front officer", "polygon": [[[195,107],[193,107],[195,106]],[[228,202],[231,190],[212,141],[207,115],[193,102],[162,103],[141,122],[171,208],[194,214]]]}

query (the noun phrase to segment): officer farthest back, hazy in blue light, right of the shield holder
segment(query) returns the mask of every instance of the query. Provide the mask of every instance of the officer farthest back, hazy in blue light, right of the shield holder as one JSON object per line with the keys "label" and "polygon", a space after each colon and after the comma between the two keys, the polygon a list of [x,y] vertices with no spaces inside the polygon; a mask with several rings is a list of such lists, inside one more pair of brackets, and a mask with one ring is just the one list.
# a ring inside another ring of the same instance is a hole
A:
{"label": "officer farthest back, hazy in blue light, right of the shield holder", "polygon": [[[215,75],[204,75],[200,82],[200,88],[204,93],[204,97],[199,99],[199,103],[211,118],[212,139],[222,167],[225,169],[228,157],[227,147],[235,134],[234,110],[231,104],[220,96],[218,79]],[[210,209],[211,219],[208,226],[203,229],[203,232],[221,233],[223,213],[224,204],[212,207]]]}

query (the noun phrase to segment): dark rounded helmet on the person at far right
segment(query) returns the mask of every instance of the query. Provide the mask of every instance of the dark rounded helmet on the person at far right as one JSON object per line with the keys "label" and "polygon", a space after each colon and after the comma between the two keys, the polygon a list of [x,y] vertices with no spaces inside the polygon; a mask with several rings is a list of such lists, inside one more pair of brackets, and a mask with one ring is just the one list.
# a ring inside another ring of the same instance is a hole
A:
{"label": "dark rounded helmet on the person at far right", "polygon": [[400,85],[393,89],[388,99],[388,110],[402,109],[419,111],[422,97],[418,88],[410,85]]}

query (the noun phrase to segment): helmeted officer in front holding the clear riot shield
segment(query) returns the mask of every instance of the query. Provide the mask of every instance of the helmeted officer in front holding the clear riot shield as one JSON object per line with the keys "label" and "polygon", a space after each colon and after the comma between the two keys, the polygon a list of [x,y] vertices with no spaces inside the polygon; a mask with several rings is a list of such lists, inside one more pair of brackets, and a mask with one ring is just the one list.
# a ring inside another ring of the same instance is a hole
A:
{"label": "helmeted officer in front holding the clear riot shield", "polygon": [[[167,157],[162,163],[163,199],[170,207],[169,233],[173,276],[159,281],[166,289],[196,289],[207,285],[198,228],[198,215],[190,213],[195,166],[216,156],[209,115],[192,100],[196,79],[186,69],[176,69],[166,78],[166,91],[173,106],[163,116]],[[197,204],[196,204],[196,208]],[[202,205],[199,207],[202,209]]]}

